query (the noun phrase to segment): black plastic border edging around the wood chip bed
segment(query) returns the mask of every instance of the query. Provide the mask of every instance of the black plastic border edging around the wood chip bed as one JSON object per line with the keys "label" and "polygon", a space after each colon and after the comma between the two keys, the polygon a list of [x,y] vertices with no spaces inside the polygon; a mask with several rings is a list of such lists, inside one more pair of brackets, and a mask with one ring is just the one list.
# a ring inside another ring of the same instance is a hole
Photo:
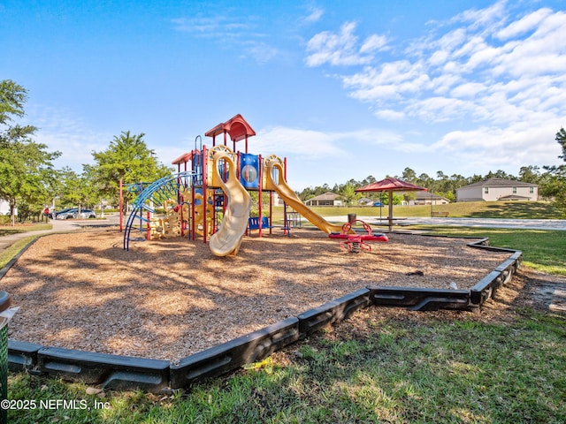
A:
{"label": "black plastic border edging around the wood chip bed", "polygon": [[[34,241],[35,239],[28,246]],[[246,363],[263,360],[272,352],[307,337],[325,325],[345,320],[358,309],[371,304],[409,307],[420,311],[442,308],[478,310],[487,299],[493,297],[497,288],[510,281],[522,257],[521,251],[486,246],[487,244],[488,239],[480,239],[468,246],[510,252],[512,255],[470,291],[409,287],[360,289],[310,309],[296,318],[276,322],[172,364],[167,360],[43,347],[9,340],[9,365],[12,370],[26,369],[30,374],[57,376],[101,385],[104,389],[111,390],[162,392],[185,388],[193,382],[222,375]]]}

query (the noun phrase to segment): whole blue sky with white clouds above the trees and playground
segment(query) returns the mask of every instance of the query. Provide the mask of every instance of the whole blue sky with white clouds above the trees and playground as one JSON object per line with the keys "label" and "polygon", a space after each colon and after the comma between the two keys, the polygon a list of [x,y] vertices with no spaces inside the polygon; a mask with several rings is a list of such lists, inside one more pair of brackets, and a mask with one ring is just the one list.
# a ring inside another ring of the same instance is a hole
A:
{"label": "whole blue sky with white clouds above the trees and playground", "polygon": [[295,190],[560,163],[566,0],[4,0],[0,21],[0,79],[59,168],[122,131],[171,163],[238,113]]}

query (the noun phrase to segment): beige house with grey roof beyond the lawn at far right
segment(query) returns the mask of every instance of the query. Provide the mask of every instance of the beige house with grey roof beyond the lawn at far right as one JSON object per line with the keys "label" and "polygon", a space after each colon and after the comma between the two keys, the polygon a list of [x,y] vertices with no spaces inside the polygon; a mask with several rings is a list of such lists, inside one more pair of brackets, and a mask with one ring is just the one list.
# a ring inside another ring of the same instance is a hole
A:
{"label": "beige house with grey roof beyond the lawn at far right", "polygon": [[489,178],[456,189],[456,201],[536,201],[539,186],[512,179]]}

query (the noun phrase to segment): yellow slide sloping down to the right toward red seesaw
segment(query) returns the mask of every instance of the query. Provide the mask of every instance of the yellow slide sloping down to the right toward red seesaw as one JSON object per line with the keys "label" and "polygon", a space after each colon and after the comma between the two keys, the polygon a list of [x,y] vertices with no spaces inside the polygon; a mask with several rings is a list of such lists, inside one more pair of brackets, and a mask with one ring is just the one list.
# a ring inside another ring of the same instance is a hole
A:
{"label": "yellow slide sloping down to the right toward red seesaw", "polygon": [[[273,180],[272,170],[276,168],[278,170],[277,181]],[[322,216],[318,215],[314,210],[311,210],[301,199],[294,193],[293,189],[287,185],[285,181],[285,172],[283,167],[283,161],[276,156],[270,155],[264,159],[264,178],[265,178],[265,189],[274,190],[279,193],[279,196],[283,201],[287,203],[291,208],[294,208],[302,216],[310,221],[310,223],[317,226],[320,230],[325,231],[330,234],[331,232],[341,232],[342,225],[336,225],[329,223]]]}

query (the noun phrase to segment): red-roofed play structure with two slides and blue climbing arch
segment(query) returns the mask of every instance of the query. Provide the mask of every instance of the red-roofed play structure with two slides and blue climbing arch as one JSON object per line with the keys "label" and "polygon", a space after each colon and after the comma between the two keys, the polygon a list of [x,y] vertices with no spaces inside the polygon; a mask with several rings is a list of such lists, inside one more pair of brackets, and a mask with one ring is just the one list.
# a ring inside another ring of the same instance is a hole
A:
{"label": "red-roofed play structure with two slides and blue climbing arch", "polygon": [[[286,159],[249,153],[249,138],[256,132],[241,115],[216,125],[204,135],[212,138],[212,148],[196,146],[195,140],[193,150],[172,162],[177,165],[177,173],[149,185],[132,186],[138,196],[126,223],[126,250],[131,240],[188,237],[209,241],[210,251],[217,256],[238,254],[241,239],[249,230],[256,228],[259,237],[264,229],[272,232],[273,193],[284,201],[281,228],[287,235],[287,208],[328,234],[343,230],[342,225],[327,222],[305,206],[287,185]],[[223,136],[224,145],[217,146],[218,136]],[[233,148],[227,146],[228,138],[233,141]],[[241,140],[245,140],[243,152],[236,148]],[[258,193],[258,217],[253,221],[249,192]],[[264,192],[270,194],[265,215]],[[140,235],[136,236],[134,229]],[[354,232],[351,226],[349,231]]]}

